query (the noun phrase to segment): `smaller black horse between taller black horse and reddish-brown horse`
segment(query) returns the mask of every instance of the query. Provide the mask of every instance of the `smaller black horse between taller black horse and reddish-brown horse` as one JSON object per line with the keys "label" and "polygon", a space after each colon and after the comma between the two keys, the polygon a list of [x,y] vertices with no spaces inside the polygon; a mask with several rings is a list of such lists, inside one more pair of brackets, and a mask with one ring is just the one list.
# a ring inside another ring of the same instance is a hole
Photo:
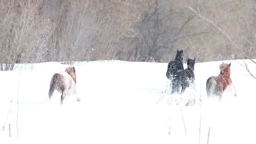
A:
{"label": "smaller black horse between taller black horse and reddish-brown horse", "polygon": [[187,87],[190,86],[190,84],[193,84],[195,82],[195,75],[194,75],[194,68],[195,68],[195,62],[196,58],[193,59],[187,59],[187,68],[185,70],[181,71],[181,94],[186,90]]}

